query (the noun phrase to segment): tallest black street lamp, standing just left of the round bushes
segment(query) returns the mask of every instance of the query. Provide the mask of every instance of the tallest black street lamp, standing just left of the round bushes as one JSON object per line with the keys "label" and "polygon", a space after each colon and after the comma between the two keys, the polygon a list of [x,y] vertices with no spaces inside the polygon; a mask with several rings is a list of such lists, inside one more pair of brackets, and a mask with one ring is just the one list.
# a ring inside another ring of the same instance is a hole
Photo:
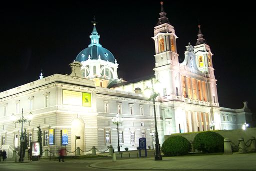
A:
{"label": "tallest black street lamp, standing just left of the round bushes", "polygon": [[[157,87],[159,86],[159,81],[155,81],[154,86]],[[159,145],[159,139],[158,139],[158,133],[157,133],[157,123],[156,123],[156,113],[155,113],[155,98],[157,96],[159,96],[159,93],[155,93],[154,92],[154,88],[153,88],[153,79],[151,78],[151,92],[150,89],[147,87],[144,92],[145,94],[147,94],[147,97],[149,97],[150,95],[150,100],[153,101],[153,111],[154,111],[154,127],[155,127],[155,156],[154,156],[154,160],[155,161],[161,161],[162,160],[162,156],[161,156],[161,150],[160,150],[160,145]]]}

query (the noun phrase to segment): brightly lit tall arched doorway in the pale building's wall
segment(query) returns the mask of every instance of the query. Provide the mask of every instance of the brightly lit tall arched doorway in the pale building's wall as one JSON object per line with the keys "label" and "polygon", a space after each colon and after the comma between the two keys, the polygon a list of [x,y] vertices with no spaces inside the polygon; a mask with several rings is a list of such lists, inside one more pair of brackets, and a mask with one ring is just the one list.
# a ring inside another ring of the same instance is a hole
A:
{"label": "brightly lit tall arched doorway in the pale building's wall", "polygon": [[75,136],[80,139],[76,140],[76,147],[84,151],[84,123],[80,119],[74,119],[71,124],[71,151],[75,150]]}

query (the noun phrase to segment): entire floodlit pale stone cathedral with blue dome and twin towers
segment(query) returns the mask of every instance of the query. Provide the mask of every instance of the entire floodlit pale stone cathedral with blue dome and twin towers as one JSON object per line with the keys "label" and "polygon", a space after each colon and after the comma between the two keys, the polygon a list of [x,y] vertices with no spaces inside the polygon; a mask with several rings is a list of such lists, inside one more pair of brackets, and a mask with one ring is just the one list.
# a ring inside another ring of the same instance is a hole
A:
{"label": "entire floodlit pale stone cathedral with blue dome and twin towers", "polygon": [[[65,146],[85,153],[92,146],[135,150],[141,137],[147,145],[154,144],[157,132],[161,145],[165,135],[241,129],[245,122],[252,122],[247,102],[241,109],[219,106],[213,54],[200,25],[197,41],[188,43],[181,63],[177,35],[163,3],[152,29],[155,67],[151,77],[119,79],[118,59],[102,47],[93,22],[90,44],[72,59],[71,74],[43,77],[41,73],[38,80],[1,92],[0,149],[12,155],[20,146],[22,128],[29,143],[36,142],[38,126],[43,150]],[[146,90],[151,91],[149,95]],[[25,118],[22,127],[19,118]]]}

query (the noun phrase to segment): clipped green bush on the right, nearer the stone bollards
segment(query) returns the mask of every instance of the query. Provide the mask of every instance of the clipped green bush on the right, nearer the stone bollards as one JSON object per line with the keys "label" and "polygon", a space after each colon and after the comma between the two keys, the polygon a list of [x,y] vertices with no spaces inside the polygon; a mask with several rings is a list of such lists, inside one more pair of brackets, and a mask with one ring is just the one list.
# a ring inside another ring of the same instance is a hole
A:
{"label": "clipped green bush on the right, nearer the stone bollards", "polygon": [[215,132],[201,132],[194,137],[193,146],[202,153],[224,152],[224,138]]}

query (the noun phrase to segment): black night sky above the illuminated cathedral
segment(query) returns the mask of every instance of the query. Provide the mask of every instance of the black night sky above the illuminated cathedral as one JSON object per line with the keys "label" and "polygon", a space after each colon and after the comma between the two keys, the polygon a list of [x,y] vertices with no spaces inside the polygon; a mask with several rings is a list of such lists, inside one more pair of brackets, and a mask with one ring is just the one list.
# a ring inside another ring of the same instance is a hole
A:
{"label": "black night sky above the illuminated cathedral", "polygon": [[[42,3],[43,2],[43,3]],[[255,18],[249,2],[164,0],[175,28],[180,61],[188,42],[195,44],[198,19],[217,79],[221,107],[256,112]],[[76,55],[90,43],[95,15],[100,44],[117,59],[119,78],[131,80],[153,73],[153,27],[160,0],[32,1],[0,5],[0,92],[44,77],[69,74]]]}

